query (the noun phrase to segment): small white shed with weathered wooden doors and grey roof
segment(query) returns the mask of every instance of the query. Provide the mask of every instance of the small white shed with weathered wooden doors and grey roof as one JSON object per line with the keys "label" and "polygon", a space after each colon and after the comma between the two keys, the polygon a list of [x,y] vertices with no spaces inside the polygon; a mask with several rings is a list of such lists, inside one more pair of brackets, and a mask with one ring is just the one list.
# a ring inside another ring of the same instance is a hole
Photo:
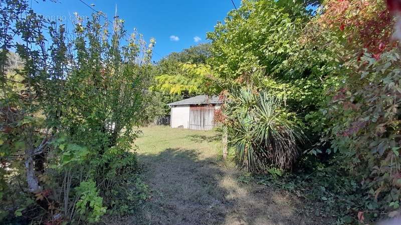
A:
{"label": "small white shed with weathered wooden doors and grey roof", "polygon": [[214,127],[215,110],[220,108],[218,96],[197,95],[169,103],[170,126],[209,130]]}

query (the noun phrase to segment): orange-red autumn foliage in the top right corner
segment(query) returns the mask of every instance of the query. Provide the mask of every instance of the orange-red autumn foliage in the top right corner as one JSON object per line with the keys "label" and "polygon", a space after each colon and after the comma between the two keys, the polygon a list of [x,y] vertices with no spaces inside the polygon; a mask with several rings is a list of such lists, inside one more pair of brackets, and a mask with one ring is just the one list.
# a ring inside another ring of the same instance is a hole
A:
{"label": "orange-red autumn foliage in the top right corner", "polygon": [[350,48],[365,48],[377,59],[393,45],[393,17],[384,2],[329,0],[319,20],[321,24],[339,30],[347,38]]}

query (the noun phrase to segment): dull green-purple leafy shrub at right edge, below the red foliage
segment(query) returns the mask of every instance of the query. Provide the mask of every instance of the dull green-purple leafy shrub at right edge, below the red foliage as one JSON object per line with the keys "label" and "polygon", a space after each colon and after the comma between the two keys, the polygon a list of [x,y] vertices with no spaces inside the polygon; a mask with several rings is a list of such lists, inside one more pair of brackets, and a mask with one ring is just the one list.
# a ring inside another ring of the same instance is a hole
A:
{"label": "dull green-purple leafy shrub at right edge, below the red foliage", "polygon": [[401,199],[400,53],[383,52],[380,60],[366,53],[350,61],[357,70],[349,71],[346,88],[334,95],[326,114],[331,148],[365,192],[355,213],[364,211],[368,220],[395,215]]}

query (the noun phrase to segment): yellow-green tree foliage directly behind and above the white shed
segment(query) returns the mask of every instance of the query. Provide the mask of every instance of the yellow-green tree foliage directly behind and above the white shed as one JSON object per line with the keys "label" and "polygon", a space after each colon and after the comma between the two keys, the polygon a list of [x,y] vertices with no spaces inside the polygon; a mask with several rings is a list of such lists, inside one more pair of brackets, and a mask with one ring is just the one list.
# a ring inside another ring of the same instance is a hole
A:
{"label": "yellow-green tree foliage directly behind and above the white shed", "polygon": [[[147,121],[168,114],[168,103],[181,100],[184,96],[211,92],[210,44],[202,43],[180,52],[172,52],[160,59],[155,67],[150,92],[153,93],[151,105],[146,109]],[[213,91],[213,90],[212,90]]]}

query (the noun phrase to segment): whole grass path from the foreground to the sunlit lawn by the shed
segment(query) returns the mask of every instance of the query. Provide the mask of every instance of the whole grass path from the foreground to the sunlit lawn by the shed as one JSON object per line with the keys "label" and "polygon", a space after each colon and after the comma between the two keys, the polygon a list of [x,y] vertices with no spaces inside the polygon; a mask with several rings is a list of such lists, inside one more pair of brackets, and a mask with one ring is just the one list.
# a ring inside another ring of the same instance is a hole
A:
{"label": "whole grass path from the foreground to the sunlit lawn by the shed", "polygon": [[214,131],[141,128],[141,176],[151,198],[118,224],[322,224],[283,191],[238,181],[241,171],[219,160]]}

